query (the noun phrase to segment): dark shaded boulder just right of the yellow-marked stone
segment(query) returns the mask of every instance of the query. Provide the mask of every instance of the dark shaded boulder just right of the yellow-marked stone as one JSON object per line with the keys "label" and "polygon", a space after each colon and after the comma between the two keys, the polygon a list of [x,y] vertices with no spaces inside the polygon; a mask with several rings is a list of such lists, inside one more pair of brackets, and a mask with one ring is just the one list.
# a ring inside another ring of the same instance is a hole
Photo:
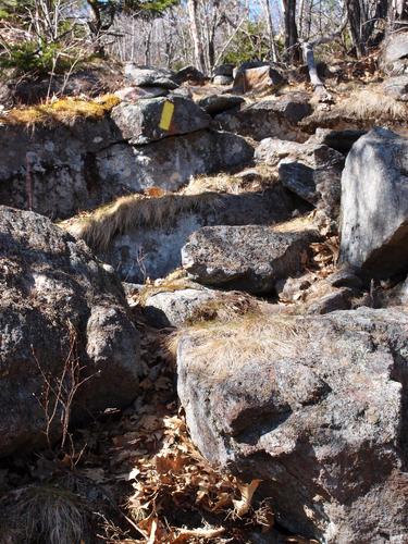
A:
{"label": "dark shaded boulder just right of the yellow-marked stone", "polygon": [[256,140],[268,137],[305,141],[307,136],[298,127],[299,121],[311,113],[309,97],[288,92],[273,100],[261,100],[215,116],[223,131],[249,136]]}

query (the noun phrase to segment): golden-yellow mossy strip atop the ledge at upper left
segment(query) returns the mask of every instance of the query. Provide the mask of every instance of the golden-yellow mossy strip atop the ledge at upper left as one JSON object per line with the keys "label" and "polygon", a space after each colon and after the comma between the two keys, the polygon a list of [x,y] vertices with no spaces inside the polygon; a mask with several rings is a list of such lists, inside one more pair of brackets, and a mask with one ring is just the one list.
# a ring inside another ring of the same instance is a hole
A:
{"label": "golden-yellow mossy strip atop the ledge at upper left", "polygon": [[78,119],[102,119],[119,103],[120,99],[114,95],[106,95],[98,100],[64,98],[28,108],[14,108],[1,118],[1,123],[27,126],[72,124]]}

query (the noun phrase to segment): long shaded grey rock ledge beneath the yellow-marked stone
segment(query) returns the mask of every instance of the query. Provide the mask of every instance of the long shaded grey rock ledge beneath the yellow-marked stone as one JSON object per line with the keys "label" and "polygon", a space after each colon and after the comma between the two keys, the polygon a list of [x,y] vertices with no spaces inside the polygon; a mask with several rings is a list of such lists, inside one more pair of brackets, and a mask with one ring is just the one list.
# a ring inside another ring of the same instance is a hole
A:
{"label": "long shaded grey rock ledge beneath the yellow-marked stone", "polygon": [[[198,110],[199,123],[207,123],[206,113],[190,103]],[[135,134],[133,128],[132,123],[122,127],[128,137]],[[163,133],[147,127],[145,134]],[[152,186],[174,190],[191,175],[235,168],[254,156],[244,138],[208,129],[132,146],[108,118],[36,126],[34,132],[0,126],[0,203],[53,219]]]}

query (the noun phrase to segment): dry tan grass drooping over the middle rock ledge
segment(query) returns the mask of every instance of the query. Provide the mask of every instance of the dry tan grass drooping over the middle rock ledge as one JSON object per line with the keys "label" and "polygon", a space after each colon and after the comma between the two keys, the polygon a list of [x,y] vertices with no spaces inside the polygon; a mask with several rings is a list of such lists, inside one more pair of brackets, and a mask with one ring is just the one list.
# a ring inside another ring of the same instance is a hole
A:
{"label": "dry tan grass drooping over the middle rock ledge", "polygon": [[131,195],[59,225],[84,239],[92,249],[103,251],[119,234],[139,227],[169,227],[182,213],[210,211],[220,206],[222,202],[215,193],[164,194],[158,197]]}

